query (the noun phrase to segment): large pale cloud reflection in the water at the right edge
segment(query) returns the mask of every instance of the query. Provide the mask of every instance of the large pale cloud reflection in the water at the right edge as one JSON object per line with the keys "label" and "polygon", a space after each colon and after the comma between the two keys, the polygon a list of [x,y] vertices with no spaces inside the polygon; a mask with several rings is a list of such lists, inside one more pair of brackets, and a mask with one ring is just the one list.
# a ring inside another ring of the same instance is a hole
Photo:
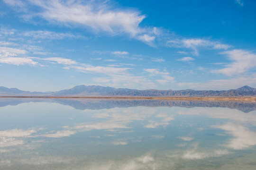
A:
{"label": "large pale cloud reflection in the water at the right edge", "polygon": [[234,123],[227,123],[225,125],[216,126],[217,128],[227,131],[230,135],[234,136],[233,139],[229,141],[227,147],[232,149],[245,149],[250,146],[256,145],[256,133]]}

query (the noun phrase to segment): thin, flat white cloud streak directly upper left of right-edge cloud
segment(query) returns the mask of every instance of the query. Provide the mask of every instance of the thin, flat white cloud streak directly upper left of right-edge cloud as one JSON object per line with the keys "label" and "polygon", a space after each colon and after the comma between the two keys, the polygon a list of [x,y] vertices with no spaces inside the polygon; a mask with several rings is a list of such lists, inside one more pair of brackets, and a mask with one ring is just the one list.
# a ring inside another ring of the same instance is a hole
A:
{"label": "thin, flat white cloud streak directly upper left of right-edge cloud", "polygon": [[193,50],[193,55],[198,56],[198,48],[204,47],[208,49],[215,50],[227,50],[231,46],[228,44],[223,44],[221,42],[200,39],[200,38],[192,38],[192,39],[177,39],[167,41],[167,46],[176,47],[176,48],[188,48]]}

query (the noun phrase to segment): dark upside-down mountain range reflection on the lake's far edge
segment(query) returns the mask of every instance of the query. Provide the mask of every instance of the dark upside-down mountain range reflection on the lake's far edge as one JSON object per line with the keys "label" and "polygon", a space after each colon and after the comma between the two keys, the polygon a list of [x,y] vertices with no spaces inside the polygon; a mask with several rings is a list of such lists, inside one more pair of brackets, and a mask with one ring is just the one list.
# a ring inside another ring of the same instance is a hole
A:
{"label": "dark upside-down mountain range reflection on the lake's far edge", "polygon": [[51,99],[51,98],[1,98],[0,107],[18,105],[24,102],[56,102],[79,110],[100,110],[115,107],[222,107],[238,109],[245,113],[256,110],[256,102],[218,101],[168,101],[168,100],[109,100],[109,99]]}

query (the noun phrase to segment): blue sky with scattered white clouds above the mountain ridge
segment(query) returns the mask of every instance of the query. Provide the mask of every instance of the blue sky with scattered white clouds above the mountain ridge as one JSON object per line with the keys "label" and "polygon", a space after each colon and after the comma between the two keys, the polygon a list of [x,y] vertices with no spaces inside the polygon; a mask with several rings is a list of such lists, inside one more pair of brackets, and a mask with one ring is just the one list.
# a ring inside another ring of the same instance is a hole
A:
{"label": "blue sky with scattered white clouds above the mountain ridge", "polygon": [[256,87],[256,0],[0,0],[0,86]]}

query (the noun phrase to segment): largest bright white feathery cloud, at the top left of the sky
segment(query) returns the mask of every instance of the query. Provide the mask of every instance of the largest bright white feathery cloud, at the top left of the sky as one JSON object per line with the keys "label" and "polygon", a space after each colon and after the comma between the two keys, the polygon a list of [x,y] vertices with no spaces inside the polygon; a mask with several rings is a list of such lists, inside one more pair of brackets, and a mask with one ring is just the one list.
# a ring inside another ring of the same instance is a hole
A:
{"label": "largest bright white feathery cloud, at the top left of the sky", "polygon": [[[20,1],[5,2],[15,6]],[[26,16],[32,17],[33,14],[52,23],[88,26],[94,31],[110,34],[126,33],[135,36],[141,32],[138,25],[145,18],[135,10],[111,10],[110,5],[105,1],[97,3],[78,0],[27,0],[22,4],[27,5],[27,11],[24,11]],[[30,12],[28,8],[30,5],[39,7],[41,10]]]}

